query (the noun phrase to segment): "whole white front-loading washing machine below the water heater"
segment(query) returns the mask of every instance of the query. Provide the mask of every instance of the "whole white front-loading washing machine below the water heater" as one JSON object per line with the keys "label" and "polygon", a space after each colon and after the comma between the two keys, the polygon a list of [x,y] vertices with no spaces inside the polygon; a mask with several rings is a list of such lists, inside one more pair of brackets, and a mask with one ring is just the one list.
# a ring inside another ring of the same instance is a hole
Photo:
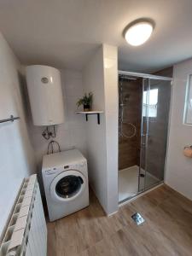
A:
{"label": "whole white front-loading washing machine below the water heater", "polygon": [[87,161],[79,150],[44,155],[42,176],[50,221],[89,206]]}

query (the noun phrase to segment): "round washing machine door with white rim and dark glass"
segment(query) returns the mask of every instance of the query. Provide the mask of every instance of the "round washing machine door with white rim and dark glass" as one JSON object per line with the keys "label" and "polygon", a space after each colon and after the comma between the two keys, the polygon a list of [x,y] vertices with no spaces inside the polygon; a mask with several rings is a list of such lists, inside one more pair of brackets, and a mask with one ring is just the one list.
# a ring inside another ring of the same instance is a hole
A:
{"label": "round washing machine door with white rim and dark glass", "polygon": [[55,201],[72,201],[86,186],[86,178],[76,170],[68,170],[57,175],[50,184],[50,195]]}

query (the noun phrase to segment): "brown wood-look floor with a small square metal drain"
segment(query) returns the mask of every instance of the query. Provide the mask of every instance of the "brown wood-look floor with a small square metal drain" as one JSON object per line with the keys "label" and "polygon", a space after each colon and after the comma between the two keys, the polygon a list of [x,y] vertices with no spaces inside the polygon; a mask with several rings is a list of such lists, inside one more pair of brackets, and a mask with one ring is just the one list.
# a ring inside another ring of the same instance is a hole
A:
{"label": "brown wood-look floor with a small square metal drain", "polygon": [[[145,222],[131,219],[140,212]],[[48,224],[48,255],[192,255],[192,201],[161,186],[106,217],[96,197],[90,207]]]}

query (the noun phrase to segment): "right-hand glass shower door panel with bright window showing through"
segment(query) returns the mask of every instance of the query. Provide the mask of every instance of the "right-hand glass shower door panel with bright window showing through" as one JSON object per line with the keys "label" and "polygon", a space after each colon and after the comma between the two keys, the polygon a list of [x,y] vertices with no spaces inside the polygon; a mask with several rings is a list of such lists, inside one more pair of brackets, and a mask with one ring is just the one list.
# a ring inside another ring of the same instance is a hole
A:
{"label": "right-hand glass shower door panel with bright window showing through", "polygon": [[164,180],[171,81],[143,79],[143,113],[138,191]]}

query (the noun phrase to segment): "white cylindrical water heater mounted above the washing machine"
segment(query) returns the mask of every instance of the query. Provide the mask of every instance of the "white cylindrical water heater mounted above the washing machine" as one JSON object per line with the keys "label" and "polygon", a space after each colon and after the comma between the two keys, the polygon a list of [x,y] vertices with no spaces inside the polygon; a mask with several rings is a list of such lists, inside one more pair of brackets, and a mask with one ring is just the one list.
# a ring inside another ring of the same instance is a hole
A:
{"label": "white cylindrical water heater mounted above the washing machine", "polygon": [[26,67],[26,83],[34,125],[58,125],[64,122],[61,75],[54,67]]}

